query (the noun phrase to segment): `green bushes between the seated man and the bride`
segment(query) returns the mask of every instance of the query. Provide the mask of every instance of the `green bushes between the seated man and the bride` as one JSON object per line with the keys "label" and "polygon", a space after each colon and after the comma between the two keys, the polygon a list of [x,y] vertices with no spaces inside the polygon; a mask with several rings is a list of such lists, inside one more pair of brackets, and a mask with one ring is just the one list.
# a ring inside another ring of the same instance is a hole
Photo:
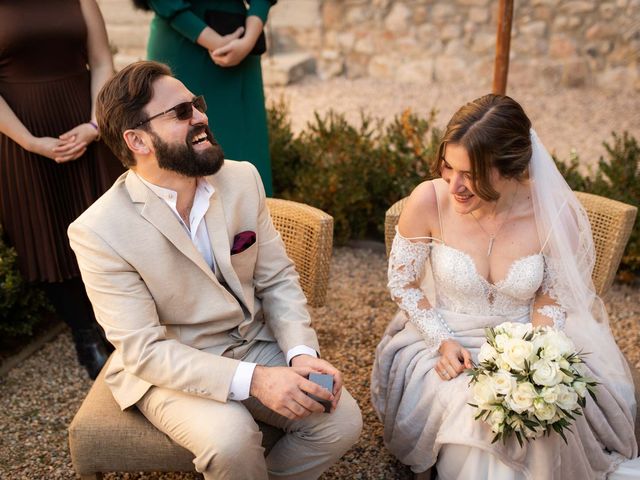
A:
{"label": "green bushes between the seated man and the bride", "polygon": [[338,244],[382,239],[387,208],[432,178],[440,136],[433,112],[423,119],[405,111],[388,125],[362,114],[359,126],[316,113],[295,136],[282,100],[267,111],[275,196],[331,214]]}

